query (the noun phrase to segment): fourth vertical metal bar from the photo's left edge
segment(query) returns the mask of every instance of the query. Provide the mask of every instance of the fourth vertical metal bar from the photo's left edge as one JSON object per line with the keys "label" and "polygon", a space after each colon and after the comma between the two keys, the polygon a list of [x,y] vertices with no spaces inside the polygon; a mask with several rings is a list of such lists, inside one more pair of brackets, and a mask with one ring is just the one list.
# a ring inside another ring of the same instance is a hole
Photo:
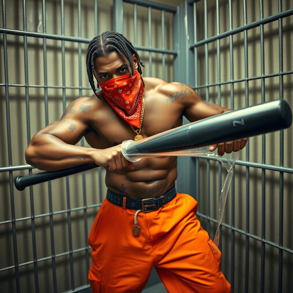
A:
{"label": "fourth vertical metal bar from the photo's left edge", "polygon": [[[64,0],[61,0],[61,35],[64,35]],[[62,102],[63,111],[66,108],[66,92],[65,92],[65,41],[61,41],[62,54]],[[73,271],[73,255],[72,255],[72,233],[71,233],[71,215],[70,215],[70,194],[69,194],[69,177],[66,176],[66,199],[67,199],[67,226],[68,226],[68,243],[69,243],[69,262],[70,262],[70,280],[71,289],[74,290],[74,271]]]}

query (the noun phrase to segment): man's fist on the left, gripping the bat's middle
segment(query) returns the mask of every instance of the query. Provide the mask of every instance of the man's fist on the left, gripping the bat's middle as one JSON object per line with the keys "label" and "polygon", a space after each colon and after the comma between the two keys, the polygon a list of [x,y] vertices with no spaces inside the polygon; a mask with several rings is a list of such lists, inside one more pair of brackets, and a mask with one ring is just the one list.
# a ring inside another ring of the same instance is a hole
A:
{"label": "man's fist on the left, gripping the bat's middle", "polygon": [[102,167],[109,166],[109,171],[120,171],[122,168],[129,167],[134,170],[132,162],[127,161],[121,152],[121,144],[108,149],[99,149],[93,151],[92,158],[94,162]]}

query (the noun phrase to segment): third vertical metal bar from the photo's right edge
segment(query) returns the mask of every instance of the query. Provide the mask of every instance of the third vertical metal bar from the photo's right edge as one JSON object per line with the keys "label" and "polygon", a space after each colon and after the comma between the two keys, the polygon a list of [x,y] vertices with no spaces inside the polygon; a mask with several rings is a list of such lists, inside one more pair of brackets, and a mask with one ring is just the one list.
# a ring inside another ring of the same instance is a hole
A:
{"label": "third vertical metal bar from the photo's right edge", "polygon": [[[246,0],[243,0],[243,19],[244,25],[247,24]],[[248,107],[248,46],[247,30],[244,30],[244,71],[245,71],[245,107]],[[246,161],[249,161],[249,141],[246,145]],[[246,167],[246,233],[249,233],[249,167]],[[248,292],[248,273],[249,273],[249,236],[245,236],[245,293]]]}

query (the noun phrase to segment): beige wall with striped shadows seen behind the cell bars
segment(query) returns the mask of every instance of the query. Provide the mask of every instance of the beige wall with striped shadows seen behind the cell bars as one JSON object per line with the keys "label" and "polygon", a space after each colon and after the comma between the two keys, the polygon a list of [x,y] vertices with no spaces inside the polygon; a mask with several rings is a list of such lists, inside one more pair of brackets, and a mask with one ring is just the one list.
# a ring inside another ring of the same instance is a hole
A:
{"label": "beige wall with striped shadows seen behind the cell bars", "polygon": [[[82,37],[92,38],[94,36],[94,14],[93,1],[82,1]],[[178,5],[182,1],[158,1],[169,5]],[[241,1],[233,2],[233,27],[243,24],[243,9]],[[277,13],[276,1],[264,1],[264,17]],[[216,34],[215,22],[215,2],[208,1],[208,36]],[[229,29],[228,23],[228,5],[227,1],[220,1],[220,31]],[[65,35],[78,36],[77,23],[77,1],[65,0]],[[98,1],[98,24],[99,33],[106,30],[112,30],[112,4],[113,1]],[[2,4],[0,4],[1,6]],[[199,40],[204,37],[203,26],[203,1],[197,4],[198,7],[198,35]],[[248,23],[259,19],[258,1],[247,0]],[[283,10],[293,7],[292,0],[283,0]],[[47,33],[61,33],[61,9],[59,1],[46,1],[46,20]],[[0,18],[2,18],[2,6]],[[133,36],[133,6],[124,4],[124,34],[131,41]],[[148,25],[147,8],[138,6],[138,45],[148,46]],[[27,29],[29,31],[42,32],[42,5],[41,1],[27,1]],[[6,1],[6,22],[7,28],[23,29],[22,20],[22,1]],[[284,71],[292,70],[292,16],[283,20],[283,47],[284,47]],[[265,74],[277,73],[278,67],[278,26],[277,21],[265,25]],[[173,23],[171,13],[165,13],[165,47],[173,49]],[[9,84],[24,84],[24,51],[23,37],[7,35],[8,43],[8,78]],[[28,70],[29,84],[43,85],[43,51],[42,39],[28,38]],[[234,79],[244,77],[244,48],[243,33],[234,35]],[[161,47],[161,13],[152,9],[152,46]],[[85,55],[86,44],[82,44],[82,86],[89,87],[86,75]],[[143,76],[149,76],[148,53],[139,51],[143,68]],[[249,77],[260,75],[260,42],[259,28],[248,31],[248,54],[249,54]],[[152,53],[154,77],[162,77],[161,54]],[[205,84],[205,54],[204,47],[199,49],[199,84]],[[62,63],[61,63],[61,41],[47,40],[47,60],[48,60],[48,84],[62,86]],[[78,86],[79,68],[78,68],[78,46],[73,42],[65,42],[65,72],[66,86]],[[209,83],[217,82],[216,70],[216,42],[209,44]],[[4,83],[3,64],[3,37],[0,34],[0,83]],[[173,57],[166,57],[166,81],[173,81]],[[229,63],[229,38],[221,40],[221,81],[230,79]],[[235,109],[245,107],[244,83],[237,83],[235,89]],[[230,107],[230,86],[221,87],[222,105]],[[205,90],[199,93],[205,98]],[[261,101],[260,81],[249,82],[249,104],[257,104]],[[83,90],[83,96],[91,95],[91,90]],[[49,88],[49,123],[59,119],[62,115],[62,89]],[[6,106],[5,90],[0,86],[0,166],[8,166],[7,151],[7,132],[6,132]],[[66,104],[79,96],[78,90],[66,90]],[[44,110],[44,90],[43,88],[29,88],[29,107],[30,107],[30,137],[39,129],[45,127]],[[279,97],[279,78],[272,77],[265,80],[266,100],[274,100]],[[284,97],[293,105],[292,100],[292,74],[284,76]],[[211,87],[209,92],[210,101],[217,103],[217,88]],[[24,151],[27,147],[27,130],[25,115],[25,88],[9,87],[9,105],[11,121],[11,140],[12,140],[12,163],[13,166],[26,164]],[[290,127],[284,131],[284,166],[293,167],[292,156],[292,134],[293,128]],[[81,142],[78,143],[80,145]],[[89,145],[85,142],[85,146]],[[239,153],[238,159],[245,160],[245,152]],[[250,139],[250,161],[261,163],[261,136]],[[266,135],[266,163],[278,165],[279,163],[279,133],[275,132]],[[218,164],[211,163],[211,217],[217,218],[217,196],[218,196]],[[199,200],[200,212],[206,213],[206,161],[201,161],[201,197]],[[104,180],[104,169],[102,169],[102,181]],[[236,166],[236,187],[235,187],[235,226],[245,230],[245,167]],[[37,173],[33,170],[33,173]],[[86,200],[87,205],[99,202],[98,193],[98,175],[97,169],[86,172]],[[28,175],[28,171],[14,171],[13,178],[16,175]],[[224,179],[223,171],[223,179]],[[293,248],[292,239],[292,174],[284,174],[284,241],[283,245]],[[60,178],[52,181],[53,211],[66,210],[66,180]],[[261,236],[261,170],[250,168],[250,232]],[[81,174],[69,177],[70,206],[83,206],[83,190]],[[105,195],[105,184],[102,182],[103,196]],[[9,174],[0,173],[0,222],[11,219]],[[15,201],[16,218],[30,216],[30,193],[27,188],[23,192],[13,189]],[[34,212],[36,215],[47,213],[48,207],[48,188],[47,183],[42,183],[33,187],[34,194]],[[88,231],[91,228],[97,208],[88,209]],[[83,211],[71,212],[73,249],[84,247],[84,222]],[[202,226],[206,229],[207,222],[200,220]],[[231,192],[228,195],[226,210],[223,222],[231,223]],[[36,238],[37,238],[37,256],[43,258],[51,255],[50,248],[50,226],[48,217],[35,219]],[[31,220],[16,222],[17,243],[18,243],[18,263],[25,263],[33,259]],[[212,238],[216,226],[211,224]],[[225,272],[228,280],[230,279],[230,239],[231,232],[223,228],[222,245],[222,270]],[[273,171],[266,171],[266,239],[278,243],[279,235],[279,174]],[[235,292],[244,292],[244,264],[245,264],[245,236],[235,234]],[[67,214],[62,213],[54,215],[54,241],[55,253],[68,251],[68,230]],[[250,239],[250,259],[249,259],[249,292],[259,291],[260,280],[260,243]],[[13,243],[11,223],[0,225],[0,259],[1,268],[12,266]],[[292,284],[292,269],[289,266],[293,263],[292,255],[284,252],[283,262],[283,292],[289,292]],[[56,259],[58,292],[63,292],[70,288],[69,258],[68,256]],[[25,265],[19,268],[21,292],[34,292],[34,274],[33,265]],[[74,253],[74,277],[76,287],[86,284],[86,267],[84,251]],[[278,275],[278,249],[266,246],[265,261],[265,292],[276,292]],[[51,260],[38,263],[38,276],[41,292],[52,292],[52,268]],[[15,292],[14,270],[6,270],[0,274],[0,284],[3,292]],[[255,289],[256,288],[256,289]],[[273,288],[273,290],[271,290]],[[288,290],[287,290],[288,289]],[[286,291],[287,290],[287,291]]]}

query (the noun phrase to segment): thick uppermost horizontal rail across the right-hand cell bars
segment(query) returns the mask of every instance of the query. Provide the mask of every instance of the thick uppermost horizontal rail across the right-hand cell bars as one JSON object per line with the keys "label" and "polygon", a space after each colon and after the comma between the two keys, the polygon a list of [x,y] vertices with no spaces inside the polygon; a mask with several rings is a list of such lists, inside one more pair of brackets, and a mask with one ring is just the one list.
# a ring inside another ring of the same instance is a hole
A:
{"label": "thick uppermost horizontal rail across the right-hand cell bars", "polygon": [[215,40],[218,40],[218,39],[222,39],[222,38],[225,38],[229,35],[235,35],[237,33],[241,33],[243,32],[244,30],[249,30],[251,28],[255,28],[261,24],[266,24],[266,23],[270,23],[272,21],[275,21],[279,18],[284,18],[286,16],[290,16],[293,14],[293,8],[291,9],[288,9],[286,11],[283,11],[283,12],[280,12],[280,13],[277,13],[277,14],[274,14],[274,15],[271,15],[271,16],[268,16],[266,18],[263,18],[263,19],[259,19],[257,21],[254,21],[252,23],[248,23],[246,25],[243,25],[243,26],[240,26],[238,28],[234,28],[233,30],[227,30],[226,32],[224,33],[221,33],[219,35],[214,35],[210,38],[207,38],[207,39],[204,39],[204,40],[201,40],[199,42],[196,42],[195,44],[191,44],[189,45],[189,48],[192,49],[194,47],[199,47],[199,46],[202,46],[206,43],[209,43],[209,42],[213,42]]}

